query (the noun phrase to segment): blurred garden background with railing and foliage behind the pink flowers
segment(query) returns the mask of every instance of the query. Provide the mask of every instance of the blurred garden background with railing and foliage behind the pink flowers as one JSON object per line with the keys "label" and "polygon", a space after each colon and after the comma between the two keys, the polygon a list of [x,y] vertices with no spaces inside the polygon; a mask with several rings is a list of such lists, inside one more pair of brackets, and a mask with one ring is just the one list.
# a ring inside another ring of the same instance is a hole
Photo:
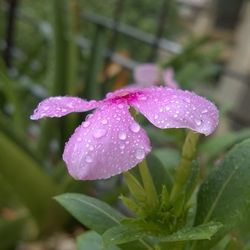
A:
{"label": "blurred garden background with railing and foliage behind the pink flowers", "polygon": [[[100,99],[133,83],[137,65],[153,62],[220,107],[217,137],[199,148],[204,166],[250,137],[247,0],[1,0],[0,53],[1,250],[76,249],[74,237],[87,229],[53,201],[57,194],[82,192],[124,209],[119,176],[75,181],[61,160],[86,114],[29,119],[48,96]],[[140,119],[171,173],[184,131]]]}

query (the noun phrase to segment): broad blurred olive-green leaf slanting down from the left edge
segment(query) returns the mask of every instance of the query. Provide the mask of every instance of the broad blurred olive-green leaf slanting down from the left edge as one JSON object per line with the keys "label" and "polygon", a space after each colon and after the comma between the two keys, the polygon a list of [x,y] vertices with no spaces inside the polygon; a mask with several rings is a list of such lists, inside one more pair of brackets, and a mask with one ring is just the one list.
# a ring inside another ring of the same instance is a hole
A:
{"label": "broad blurred olive-green leaf slanting down from the left edge", "polygon": [[42,167],[33,158],[1,131],[0,159],[1,176],[15,190],[39,225],[44,227],[45,224],[55,222],[56,218],[61,223],[62,209],[54,207],[57,204],[52,200],[60,188],[42,172]]}

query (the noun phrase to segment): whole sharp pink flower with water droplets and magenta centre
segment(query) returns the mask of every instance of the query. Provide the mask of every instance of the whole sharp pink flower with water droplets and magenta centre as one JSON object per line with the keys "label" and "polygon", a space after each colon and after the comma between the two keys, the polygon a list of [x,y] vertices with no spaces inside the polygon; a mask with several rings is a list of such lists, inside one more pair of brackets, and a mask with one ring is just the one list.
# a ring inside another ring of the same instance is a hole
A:
{"label": "whole sharp pink flower with water droplets and magenta centre", "polygon": [[189,128],[209,135],[218,124],[213,103],[189,91],[164,87],[121,89],[101,101],[50,97],[31,119],[96,109],[66,143],[63,160],[75,179],[106,179],[136,166],[151,151],[150,140],[129,107],[158,128]]}

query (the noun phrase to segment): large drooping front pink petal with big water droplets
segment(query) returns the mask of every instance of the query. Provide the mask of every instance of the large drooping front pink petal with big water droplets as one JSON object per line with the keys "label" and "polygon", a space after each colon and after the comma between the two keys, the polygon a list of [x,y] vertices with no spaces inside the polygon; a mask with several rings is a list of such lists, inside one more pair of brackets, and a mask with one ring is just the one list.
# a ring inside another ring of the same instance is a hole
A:
{"label": "large drooping front pink petal with big water droplets", "polygon": [[63,159],[76,179],[106,179],[136,166],[149,151],[149,138],[128,106],[103,104],[76,129]]}

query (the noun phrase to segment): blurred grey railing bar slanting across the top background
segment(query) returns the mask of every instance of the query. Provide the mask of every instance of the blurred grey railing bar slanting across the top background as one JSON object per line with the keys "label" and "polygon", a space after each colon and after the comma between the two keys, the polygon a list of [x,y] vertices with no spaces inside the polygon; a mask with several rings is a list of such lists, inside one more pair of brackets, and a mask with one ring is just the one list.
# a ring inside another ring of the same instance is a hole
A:
{"label": "blurred grey railing bar slanting across the top background", "polygon": [[[114,27],[116,27],[119,33],[126,35],[128,37],[134,38],[143,43],[147,43],[149,45],[154,45],[155,43],[154,35],[138,30],[127,24],[119,23],[119,25],[117,25],[117,23],[115,24],[115,22],[110,18],[96,15],[90,12],[84,12],[82,14],[82,17],[89,22],[92,22],[96,25],[103,26],[107,29],[113,30]],[[164,49],[174,54],[178,54],[182,51],[182,46],[180,44],[173,42],[173,41],[169,41],[165,38],[159,39],[159,48]]]}

